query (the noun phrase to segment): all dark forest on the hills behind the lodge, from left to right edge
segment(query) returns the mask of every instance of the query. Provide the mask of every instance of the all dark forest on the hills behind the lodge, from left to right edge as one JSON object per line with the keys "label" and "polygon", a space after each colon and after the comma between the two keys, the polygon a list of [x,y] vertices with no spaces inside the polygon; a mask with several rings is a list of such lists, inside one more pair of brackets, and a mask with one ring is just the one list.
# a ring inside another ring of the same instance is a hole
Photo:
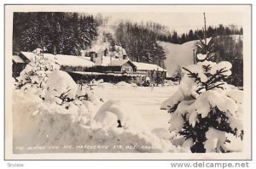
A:
{"label": "all dark forest on the hills behind the lodge, from left to right edge", "polygon": [[[83,49],[91,48],[96,40],[98,26],[108,25],[108,20],[102,15],[81,13],[15,13],[13,30],[13,54],[20,51],[33,51],[44,48],[49,54],[80,55]],[[115,25],[114,34],[106,33],[104,37],[111,44],[125,48],[129,58],[133,61],[152,63],[165,68],[166,54],[157,41],[182,44],[198,40],[203,37],[202,30],[190,30],[189,33],[177,35],[177,31],[170,33],[166,26],[154,22],[135,23],[120,21]],[[242,39],[236,42],[230,35],[242,35],[242,28],[230,25],[207,27],[207,37],[213,37],[214,52],[220,60],[227,60],[234,65],[230,83],[242,86]],[[191,56],[193,57],[193,56]],[[238,79],[238,80],[237,80]]]}

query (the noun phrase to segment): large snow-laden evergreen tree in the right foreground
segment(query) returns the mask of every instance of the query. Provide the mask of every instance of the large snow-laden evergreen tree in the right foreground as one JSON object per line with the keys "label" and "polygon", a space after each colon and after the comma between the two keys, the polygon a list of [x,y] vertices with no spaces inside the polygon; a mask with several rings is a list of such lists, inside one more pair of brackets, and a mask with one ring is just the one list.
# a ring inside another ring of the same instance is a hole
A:
{"label": "large snow-laden evergreen tree in the right foreground", "polygon": [[[227,152],[225,133],[243,137],[242,91],[225,82],[231,75],[230,62],[210,61],[212,44],[198,45],[197,65],[183,67],[177,92],[161,104],[171,113],[170,132],[183,136],[192,152]],[[231,143],[232,144],[232,143]]]}

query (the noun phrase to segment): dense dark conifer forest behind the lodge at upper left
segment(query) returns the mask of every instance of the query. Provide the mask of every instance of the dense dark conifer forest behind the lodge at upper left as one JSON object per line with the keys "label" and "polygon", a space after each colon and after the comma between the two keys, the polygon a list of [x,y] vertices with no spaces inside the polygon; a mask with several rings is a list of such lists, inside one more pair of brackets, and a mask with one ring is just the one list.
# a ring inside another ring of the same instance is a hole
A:
{"label": "dense dark conifer forest behind the lodge at upper left", "polygon": [[13,53],[44,48],[51,54],[79,55],[90,48],[99,24],[92,15],[78,13],[15,13]]}

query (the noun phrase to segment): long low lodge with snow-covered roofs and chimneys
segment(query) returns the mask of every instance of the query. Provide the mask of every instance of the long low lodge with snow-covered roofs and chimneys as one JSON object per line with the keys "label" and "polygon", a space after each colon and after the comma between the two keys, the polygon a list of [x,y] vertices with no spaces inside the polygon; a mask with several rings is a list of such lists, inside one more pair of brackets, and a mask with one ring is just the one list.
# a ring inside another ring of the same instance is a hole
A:
{"label": "long low lodge with snow-covered roofs and chimneys", "polygon": [[[125,53],[108,54],[106,49],[102,54],[93,51],[84,56],[63,54],[44,54],[55,58],[61,65],[61,70],[67,71],[75,81],[80,79],[103,79],[104,82],[143,82],[146,77],[154,81],[156,76],[166,78],[166,70],[159,65],[131,61]],[[37,55],[33,52],[23,52],[13,56],[13,76],[19,76],[31,60]]]}

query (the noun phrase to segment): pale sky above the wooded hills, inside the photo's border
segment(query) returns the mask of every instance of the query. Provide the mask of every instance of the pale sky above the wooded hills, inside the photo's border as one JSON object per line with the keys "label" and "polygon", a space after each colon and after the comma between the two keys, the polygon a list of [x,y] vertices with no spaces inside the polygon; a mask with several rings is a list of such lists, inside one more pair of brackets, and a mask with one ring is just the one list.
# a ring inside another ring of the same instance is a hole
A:
{"label": "pale sky above the wooded hills, inside the photo's border", "polygon": [[[178,34],[188,32],[189,29],[201,29],[204,25],[203,13],[112,13],[103,14],[110,19],[109,24],[115,24],[118,20],[131,20],[145,24],[151,20],[169,27],[170,31],[176,30]],[[241,27],[242,14],[240,13],[206,13],[207,26],[236,25]]]}

